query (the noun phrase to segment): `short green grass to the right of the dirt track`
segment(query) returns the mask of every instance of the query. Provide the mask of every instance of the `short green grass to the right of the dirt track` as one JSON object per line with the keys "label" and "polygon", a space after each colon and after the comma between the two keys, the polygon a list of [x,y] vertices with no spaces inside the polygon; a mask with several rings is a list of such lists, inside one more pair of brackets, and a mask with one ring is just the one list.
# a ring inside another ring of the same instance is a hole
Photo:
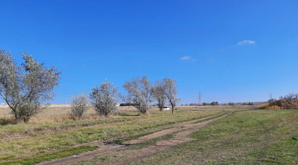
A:
{"label": "short green grass to the right of the dirt track", "polygon": [[238,111],[132,164],[298,164],[297,125],[296,110]]}

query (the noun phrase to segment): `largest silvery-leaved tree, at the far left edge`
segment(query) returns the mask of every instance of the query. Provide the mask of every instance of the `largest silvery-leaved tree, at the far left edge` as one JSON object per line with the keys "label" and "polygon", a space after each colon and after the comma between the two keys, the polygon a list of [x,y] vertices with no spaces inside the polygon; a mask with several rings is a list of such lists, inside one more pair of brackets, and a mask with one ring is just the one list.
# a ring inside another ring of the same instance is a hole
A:
{"label": "largest silvery-leaved tree, at the far left edge", "polygon": [[24,62],[17,65],[10,52],[0,50],[0,96],[12,109],[15,119],[27,122],[54,99],[53,89],[59,87],[61,72],[55,66],[39,64],[27,52],[21,55]]}

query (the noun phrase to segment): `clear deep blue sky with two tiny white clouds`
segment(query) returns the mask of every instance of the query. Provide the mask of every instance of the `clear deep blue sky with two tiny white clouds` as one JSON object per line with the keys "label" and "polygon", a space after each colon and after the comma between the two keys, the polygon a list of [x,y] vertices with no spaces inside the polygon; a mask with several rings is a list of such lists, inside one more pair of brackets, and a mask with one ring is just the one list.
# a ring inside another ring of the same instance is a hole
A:
{"label": "clear deep blue sky with two tiny white clouds", "polygon": [[182,103],[298,92],[298,1],[2,1],[0,47],[62,71],[53,103],[107,78],[175,78]]}

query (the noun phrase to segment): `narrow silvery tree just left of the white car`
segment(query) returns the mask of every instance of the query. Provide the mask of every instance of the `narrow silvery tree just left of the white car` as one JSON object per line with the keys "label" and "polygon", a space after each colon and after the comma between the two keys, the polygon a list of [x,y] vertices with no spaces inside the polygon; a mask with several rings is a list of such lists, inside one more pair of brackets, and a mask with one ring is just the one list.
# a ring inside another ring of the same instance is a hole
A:
{"label": "narrow silvery tree just left of the white car", "polygon": [[163,84],[160,80],[155,81],[153,96],[157,101],[156,104],[159,108],[159,111],[162,111],[164,105],[167,102],[167,97],[163,93]]}

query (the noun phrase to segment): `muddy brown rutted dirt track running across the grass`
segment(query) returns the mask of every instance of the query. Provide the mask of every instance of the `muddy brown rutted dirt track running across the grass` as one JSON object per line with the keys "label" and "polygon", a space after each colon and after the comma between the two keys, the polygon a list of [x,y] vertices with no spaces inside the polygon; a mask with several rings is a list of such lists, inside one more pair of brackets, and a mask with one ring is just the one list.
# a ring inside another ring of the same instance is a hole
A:
{"label": "muddy brown rutted dirt track running across the grass", "polygon": [[[49,161],[49,162],[44,162],[44,163],[40,163],[40,165],[52,165],[52,164],[74,164],[74,163],[78,163],[80,161],[84,161],[84,160],[90,160],[92,159],[94,156],[99,156],[99,155],[103,155],[103,154],[108,154],[110,156],[124,156],[125,160],[114,160],[114,161],[109,161],[109,162],[104,162],[102,164],[129,164],[131,162],[134,162],[136,160],[139,160],[141,158],[146,158],[149,157],[150,155],[153,155],[155,153],[161,152],[162,150],[165,150],[166,148],[173,146],[173,145],[177,145],[183,142],[188,142],[191,140],[197,140],[197,139],[193,139],[193,138],[189,138],[188,136],[195,132],[198,131],[201,127],[204,127],[205,125],[214,122],[216,120],[220,120],[226,116],[231,115],[234,112],[230,112],[228,114],[222,115],[220,117],[217,117],[215,119],[212,120],[207,120],[210,119],[212,117],[224,114],[226,112],[220,113],[220,114],[215,114],[212,116],[208,116],[208,117],[204,117],[198,120],[193,120],[191,122],[184,122],[181,124],[176,124],[174,125],[174,128],[170,128],[168,130],[162,130],[147,136],[143,136],[139,139],[134,139],[134,140],[130,140],[128,142],[125,142],[125,144],[139,144],[142,142],[145,142],[147,140],[150,139],[154,139],[160,136],[163,136],[165,134],[169,134],[172,133],[174,131],[181,131],[179,133],[177,133],[173,138],[171,139],[167,139],[167,140],[162,140],[156,143],[156,145],[152,145],[150,147],[147,148],[142,148],[140,150],[125,150],[125,151],[117,151],[117,149],[119,148],[113,148],[113,149],[97,149],[94,151],[90,151],[87,153],[83,153],[79,156],[71,156],[71,157],[67,157],[67,158],[60,158],[60,159],[56,159],[53,161]],[[202,120],[207,120],[205,122],[199,122]],[[199,122],[199,123],[196,123]],[[182,127],[182,128],[181,128]],[[191,129],[190,129],[191,128]],[[116,150],[116,151],[115,151]]]}

